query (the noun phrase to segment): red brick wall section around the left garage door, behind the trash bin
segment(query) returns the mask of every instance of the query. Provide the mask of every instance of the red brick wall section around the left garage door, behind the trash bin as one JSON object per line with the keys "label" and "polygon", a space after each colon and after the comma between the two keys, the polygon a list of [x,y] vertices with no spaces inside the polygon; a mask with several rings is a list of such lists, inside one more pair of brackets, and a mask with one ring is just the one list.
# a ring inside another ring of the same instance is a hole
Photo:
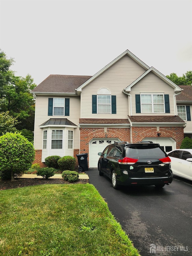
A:
{"label": "red brick wall section around the left garage door, behind the trash bin", "polygon": [[[130,129],[129,128],[79,128],[80,130],[80,152],[84,154],[89,152],[89,142],[93,138],[118,138],[121,141],[130,142]],[[89,166],[89,155],[88,155]]]}

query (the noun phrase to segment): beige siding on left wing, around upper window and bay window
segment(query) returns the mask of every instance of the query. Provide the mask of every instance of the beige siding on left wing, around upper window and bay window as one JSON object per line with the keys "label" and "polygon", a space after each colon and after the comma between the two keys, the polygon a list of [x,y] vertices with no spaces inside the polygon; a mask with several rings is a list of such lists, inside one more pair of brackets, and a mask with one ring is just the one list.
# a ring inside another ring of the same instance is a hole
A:
{"label": "beige siding on left wing, around upper window and bay window", "polygon": [[[70,98],[70,116],[48,116],[48,98]],[[80,97],[36,96],[34,147],[42,149],[43,129],[39,125],[50,118],[67,118],[78,126],[80,118]],[[74,129],[74,148],[79,149],[79,128]]]}

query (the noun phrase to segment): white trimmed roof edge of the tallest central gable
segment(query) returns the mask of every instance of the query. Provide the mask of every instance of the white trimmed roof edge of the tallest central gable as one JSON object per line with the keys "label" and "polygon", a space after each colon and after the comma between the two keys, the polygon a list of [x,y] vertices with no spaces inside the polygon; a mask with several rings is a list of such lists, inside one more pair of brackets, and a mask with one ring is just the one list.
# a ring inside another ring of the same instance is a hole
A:
{"label": "white trimmed roof edge of the tallest central gable", "polygon": [[116,59],[114,59],[112,62],[110,62],[107,66],[102,68],[98,73],[96,73],[94,76],[92,76],[90,79],[88,79],[85,83],[83,83],[81,86],[79,86],[76,89],[77,94],[79,95],[81,93],[82,88],[84,88],[86,85],[91,83],[95,78],[97,78],[99,75],[101,75],[104,71],[106,71],[108,68],[110,68],[113,64],[115,64],[117,61],[119,61],[121,58],[123,58],[125,55],[128,55],[131,59],[133,59],[135,62],[137,62],[141,67],[143,67],[145,70],[149,69],[149,66],[146,65],[143,61],[141,61],[139,58],[137,58],[133,53],[131,53],[129,50],[126,50],[124,53],[119,55]]}

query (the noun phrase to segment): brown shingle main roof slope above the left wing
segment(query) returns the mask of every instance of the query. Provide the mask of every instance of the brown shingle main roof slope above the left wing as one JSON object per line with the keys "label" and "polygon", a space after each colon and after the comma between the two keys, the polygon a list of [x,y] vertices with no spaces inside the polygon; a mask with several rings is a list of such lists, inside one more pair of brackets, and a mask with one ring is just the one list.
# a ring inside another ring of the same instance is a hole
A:
{"label": "brown shingle main roof slope above the left wing", "polygon": [[75,93],[75,89],[85,83],[91,76],[49,75],[36,86],[32,92]]}

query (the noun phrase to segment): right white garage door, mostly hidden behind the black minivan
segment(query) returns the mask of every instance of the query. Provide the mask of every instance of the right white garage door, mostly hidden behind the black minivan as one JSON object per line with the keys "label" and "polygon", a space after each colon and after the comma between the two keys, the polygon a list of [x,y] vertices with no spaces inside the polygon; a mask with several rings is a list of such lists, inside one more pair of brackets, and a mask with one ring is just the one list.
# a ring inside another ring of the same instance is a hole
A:
{"label": "right white garage door, mostly hidden behind the black minivan", "polygon": [[159,143],[165,152],[169,152],[176,149],[176,142],[172,138],[145,138],[143,141],[152,141],[153,143]]}

